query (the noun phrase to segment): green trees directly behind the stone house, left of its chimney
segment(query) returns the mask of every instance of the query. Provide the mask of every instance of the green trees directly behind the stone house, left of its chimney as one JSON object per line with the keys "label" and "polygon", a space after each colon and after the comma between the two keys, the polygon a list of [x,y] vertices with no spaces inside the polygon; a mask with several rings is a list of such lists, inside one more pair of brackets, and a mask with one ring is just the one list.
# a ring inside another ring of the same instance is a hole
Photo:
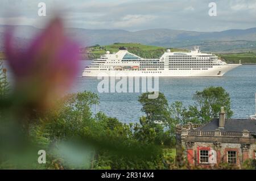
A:
{"label": "green trees directly behind the stone house, left of its chimney", "polygon": [[194,104],[188,107],[184,107],[182,102],[171,104],[169,127],[172,132],[176,124],[208,123],[218,117],[222,106],[228,118],[233,115],[229,94],[222,87],[208,87],[203,91],[196,91],[193,100]]}

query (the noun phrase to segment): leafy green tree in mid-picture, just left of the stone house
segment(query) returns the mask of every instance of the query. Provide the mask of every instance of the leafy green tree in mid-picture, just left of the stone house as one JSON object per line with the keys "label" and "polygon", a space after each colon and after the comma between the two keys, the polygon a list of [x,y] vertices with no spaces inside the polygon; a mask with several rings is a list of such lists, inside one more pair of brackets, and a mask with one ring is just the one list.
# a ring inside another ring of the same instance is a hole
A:
{"label": "leafy green tree in mid-picture, just left of the stone house", "polygon": [[156,145],[174,145],[174,134],[166,128],[171,123],[168,101],[162,92],[158,98],[149,99],[148,95],[152,92],[145,92],[139,96],[142,104],[142,111],[146,117],[141,117],[139,124],[135,124],[134,136],[142,141],[154,143]]}

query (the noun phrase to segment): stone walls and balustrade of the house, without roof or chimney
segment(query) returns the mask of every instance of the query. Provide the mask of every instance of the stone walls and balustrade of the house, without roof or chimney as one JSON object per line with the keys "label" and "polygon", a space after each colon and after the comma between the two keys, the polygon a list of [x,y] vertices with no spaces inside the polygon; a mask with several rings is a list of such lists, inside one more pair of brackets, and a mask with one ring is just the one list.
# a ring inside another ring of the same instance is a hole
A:
{"label": "stone walls and balustrade of the house, without roof or chimney", "polygon": [[[236,165],[241,166],[247,159],[255,159],[256,138],[254,132],[226,132],[220,129],[200,131],[200,125],[176,126],[176,153],[185,156],[189,163],[213,166],[228,163],[228,151],[236,151]],[[200,150],[208,150],[209,163],[200,162]]]}

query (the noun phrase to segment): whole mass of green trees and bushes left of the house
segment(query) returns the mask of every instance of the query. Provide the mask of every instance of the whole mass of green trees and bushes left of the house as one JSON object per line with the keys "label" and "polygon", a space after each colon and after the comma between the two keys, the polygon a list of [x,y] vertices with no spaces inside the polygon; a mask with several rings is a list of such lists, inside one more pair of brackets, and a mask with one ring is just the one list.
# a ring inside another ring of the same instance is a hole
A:
{"label": "whole mass of green trees and bushes left of the house", "polygon": [[[92,148],[93,157],[89,165],[86,163],[79,168],[192,169],[185,160],[181,166],[175,165],[173,150],[166,149],[175,144],[175,125],[201,123],[205,117],[209,119],[216,116],[220,106],[226,105],[228,110],[228,93],[221,87],[197,91],[194,96],[195,105],[188,107],[184,107],[181,102],[175,102],[169,107],[161,92],[156,99],[148,99],[148,94],[152,93],[144,93],[138,99],[146,117],[141,117],[139,123],[129,125],[103,112],[93,116],[90,107],[98,104],[99,100],[92,92],[67,95],[57,102],[56,108],[49,111],[42,121],[31,126],[30,135],[37,145],[49,151],[50,162],[47,167],[51,169],[77,168],[47,149],[47,146],[51,148],[52,144],[71,139]],[[206,109],[207,106],[210,111]],[[207,111],[210,114],[205,116]]]}

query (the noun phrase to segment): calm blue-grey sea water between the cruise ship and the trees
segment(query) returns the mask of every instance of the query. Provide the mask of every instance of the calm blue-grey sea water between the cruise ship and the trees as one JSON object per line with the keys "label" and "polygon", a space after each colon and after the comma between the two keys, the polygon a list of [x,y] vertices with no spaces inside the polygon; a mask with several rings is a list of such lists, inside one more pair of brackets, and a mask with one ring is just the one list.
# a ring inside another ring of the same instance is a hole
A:
{"label": "calm blue-grey sea water between the cruise ship and the trees", "polygon": [[[92,91],[100,96],[100,105],[93,112],[102,111],[117,117],[122,122],[135,122],[143,115],[138,96],[141,93],[99,93],[97,78],[81,77],[82,70],[90,61],[80,61],[80,71],[70,92]],[[11,77],[11,75],[10,75]],[[118,82],[118,81],[116,81]],[[255,114],[256,65],[242,65],[214,78],[159,78],[159,91],[163,92],[171,104],[176,100],[185,106],[193,104],[192,95],[209,86],[222,86],[229,92],[234,118],[246,118]]]}

